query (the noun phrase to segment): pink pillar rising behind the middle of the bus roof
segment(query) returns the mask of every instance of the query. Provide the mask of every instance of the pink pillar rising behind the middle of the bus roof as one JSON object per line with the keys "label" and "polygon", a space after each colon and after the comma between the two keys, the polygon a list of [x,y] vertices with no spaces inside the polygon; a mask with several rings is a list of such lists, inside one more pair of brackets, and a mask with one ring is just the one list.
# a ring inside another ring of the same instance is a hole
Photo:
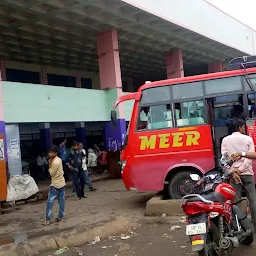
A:
{"label": "pink pillar rising behind the middle of the bus roof", "polygon": [[167,79],[184,77],[182,50],[176,49],[166,54]]}

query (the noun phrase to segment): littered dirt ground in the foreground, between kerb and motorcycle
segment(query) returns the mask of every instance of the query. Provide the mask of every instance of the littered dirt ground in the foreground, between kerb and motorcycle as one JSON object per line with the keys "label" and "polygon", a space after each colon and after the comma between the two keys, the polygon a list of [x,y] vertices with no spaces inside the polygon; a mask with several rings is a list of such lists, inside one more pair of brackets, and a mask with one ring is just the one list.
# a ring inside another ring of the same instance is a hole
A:
{"label": "littered dirt ground in the foreground, between kerb and motorcycle", "polygon": [[[188,238],[184,235],[184,223],[173,220],[169,224],[147,224],[140,221],[141,225],[133,231],[120,237],[112,237],[94,245],[85,245],[81,248],[71,248],[60,254],[61,256],[93,255],[93,256],[186,256],[197,255],[191,252]],[[173,230],[176,226],[179,229]],[[122,238],[126,238],[122,240]],[[255,255],[256,244],[250,247],[241,247],[233,251],[232,256],[242,254]],[[53,256],[54,252],[42,256]]]}

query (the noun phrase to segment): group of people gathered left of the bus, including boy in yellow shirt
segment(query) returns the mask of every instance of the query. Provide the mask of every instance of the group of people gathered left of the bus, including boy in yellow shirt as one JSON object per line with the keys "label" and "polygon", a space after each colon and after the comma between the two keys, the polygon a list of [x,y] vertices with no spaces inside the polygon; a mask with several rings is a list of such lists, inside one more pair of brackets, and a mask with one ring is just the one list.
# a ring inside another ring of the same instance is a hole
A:
{"label": "group of people gathered left of the bus, including boy in yellow shirt", "polygon": [[59,215],[56,221],[63,220],[66,181],[72,180],[73,192],[76,193],[78,200],[81,200],[86,198],[85,184],[88,186],[89,191],[97,190],[92,186],[88,169],[101,167],[103,170],[106,168],[107,152],[103,148],[100,149],[95,144],[93,149],[88,149],[87,157],[86,150],[81,142],[74,141],[70,153],[67,152],[66,143],[67,140],[64,140],[59,147],[53,146],[48,152],[48,161],[44,155],[39,156],[37,159],[42,177],[46,177],[46,170],[48,175],[51,176],[44,225],[51,223],[52,208],[56,198],[59,202]]}

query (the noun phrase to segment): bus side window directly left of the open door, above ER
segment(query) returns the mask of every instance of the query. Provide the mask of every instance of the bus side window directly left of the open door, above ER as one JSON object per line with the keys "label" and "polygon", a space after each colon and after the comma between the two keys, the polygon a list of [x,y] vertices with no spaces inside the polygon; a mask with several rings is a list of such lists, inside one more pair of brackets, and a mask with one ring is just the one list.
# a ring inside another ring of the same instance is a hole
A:
{"label": "bus side window directly left of the open door, above ER", "polygon": [[188,101],[175,103],[175,114],[177,126],[205,124],[204,103],[199,101]]}

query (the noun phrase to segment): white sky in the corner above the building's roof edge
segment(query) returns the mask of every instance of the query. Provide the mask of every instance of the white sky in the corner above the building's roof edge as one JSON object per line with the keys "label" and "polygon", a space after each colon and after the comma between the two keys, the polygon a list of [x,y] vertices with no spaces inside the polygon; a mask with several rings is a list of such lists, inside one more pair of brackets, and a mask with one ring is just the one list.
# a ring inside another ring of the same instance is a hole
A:
{"label": "white sky in the corner above the building's roof edge", "polygon": [[256,29],[256,0],[206,0],[219,9]]}

